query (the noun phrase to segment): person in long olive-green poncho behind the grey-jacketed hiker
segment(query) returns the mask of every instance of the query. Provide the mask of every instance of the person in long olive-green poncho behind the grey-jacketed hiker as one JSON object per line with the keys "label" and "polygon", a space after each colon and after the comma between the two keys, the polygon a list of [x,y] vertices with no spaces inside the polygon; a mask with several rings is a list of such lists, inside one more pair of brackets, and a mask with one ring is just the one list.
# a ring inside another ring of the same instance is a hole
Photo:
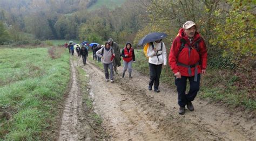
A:
{"label": "person in long olive-green poncho behind the grey-jacketed hiker", "polygon": [[109,38],[108,42],[110,43],[110,46],[113,48],[114,53],[116,53],[113,60],[113,66],[114,66],[114,72],[118,74],[117,67],[121,66],[120,48],[112,38]]}

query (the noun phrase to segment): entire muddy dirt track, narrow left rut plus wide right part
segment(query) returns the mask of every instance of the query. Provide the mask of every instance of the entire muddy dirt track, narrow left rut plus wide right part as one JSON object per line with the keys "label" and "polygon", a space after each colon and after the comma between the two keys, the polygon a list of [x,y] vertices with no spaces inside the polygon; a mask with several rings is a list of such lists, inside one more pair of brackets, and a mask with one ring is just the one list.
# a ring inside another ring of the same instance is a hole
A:
{"label": "entire muddy dirt track, narrow left rut plus wide right part", "polygon": [[[82,61],[78,62],[82,66]],[[72,63],[71,63],[72,66]],[[176,90],[160,84],[160,93],[147,90],[149,78],[132,73],[133,79],[114,75],[114,83],[106,82],[104,72],[94,65],[83,66],[90,78],[93,106],[103,118],[103,126],[111,140],[255,140],[254,115],[228,110],[206,101],[193,102],[195,110],[178,114]],[[72,70],[73,72],[73,70]],[[122,68],[119,67],[119,72]],[[74,80],[74,76],[73,76]],[[72,89],[71,89],[72,91]],[[73,90],[72,93],[76,93]],[[74,95],[74,94],[72,94]],[[59,140],[77,140],[86,129],[79,122],[79,94],[67,98]],[[77,97],[77,98],[76,98]],[[69,104],[69,103],[77,103]],[[75,110],[74,110],[75,109]],[[65,114],[66,112],[66,114]],[[81,115],[80,115],[81,116]],[[83,115],[82,115],[83,116]],[[75,119],[76,118],[76,119]],[[62,131],[65,130],[65,131]]]}

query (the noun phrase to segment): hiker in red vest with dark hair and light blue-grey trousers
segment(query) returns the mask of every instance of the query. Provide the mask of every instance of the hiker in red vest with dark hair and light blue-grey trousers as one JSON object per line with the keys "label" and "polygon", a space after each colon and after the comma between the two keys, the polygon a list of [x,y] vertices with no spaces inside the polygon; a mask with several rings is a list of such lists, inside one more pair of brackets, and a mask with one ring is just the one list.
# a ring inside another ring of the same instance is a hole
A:
{"label": "hiker in red vest with dark hair and light blue-grey trousers", "polygon": [[131,43],[126,43],[125,47],[122,50],[121,56],[124,60],[124,70],[122,73],[122,77],[124,77],[125,72],[128,68],[129,78],[132,79],[132,62],[135,61],[135,54]]}

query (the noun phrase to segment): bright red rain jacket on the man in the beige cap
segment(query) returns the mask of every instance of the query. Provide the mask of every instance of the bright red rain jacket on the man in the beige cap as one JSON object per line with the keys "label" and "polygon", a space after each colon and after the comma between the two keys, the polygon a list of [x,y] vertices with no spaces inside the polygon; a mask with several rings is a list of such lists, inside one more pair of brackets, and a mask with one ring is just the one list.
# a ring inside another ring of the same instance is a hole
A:
{"label": "bright red rain jacket on the man in the beige cap", "polygon": [[[179,48],[181,47],[181,39],[186,40],[186,44],[184,45],[183,50],[179,52]],[[198,41],[199,40],[199,41]],[[196,41],[198,41],[199,52],[196,50]],[[191,47],[190,57],[188,55],[189,47]],[[173,73],[180,72],[181,76],[190,76],[188,75],[188,68],[184,66],[178,66],[177,62],[184,65],[195,65],[199,62],[198,74],[201,73],[202,69],[206,69],[207,67],[207,50],[204,39],[201,38],[198,32],[195,33],[192,44],[190,44],[190,40],[187,36],[185,36],[185,32],[183,29],[179,30],[178,36],[173,40],[170,54],[169,54],[169,65],[173,71]],[[195,67],[191,68],[192,75],[194,76]]]}

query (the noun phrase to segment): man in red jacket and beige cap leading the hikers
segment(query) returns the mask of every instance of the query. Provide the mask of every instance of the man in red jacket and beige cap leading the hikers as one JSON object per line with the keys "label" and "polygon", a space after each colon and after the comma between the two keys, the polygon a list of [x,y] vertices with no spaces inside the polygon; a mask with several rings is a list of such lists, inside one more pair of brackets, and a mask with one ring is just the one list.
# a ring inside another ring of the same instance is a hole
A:
{"label": "man in red jacket and beige cap leading the hikers", "polygon": [[[200,74],[206,72],[206,45],[197,30],[197,24],[187,21],[173,40],[170,50],[169,65],[176,77],[180,115],[185,114],[185,105],[188,110],[194,110],[191,101],[199,90]],[[187,79],[190,81],[190,90],[186,94]]]}

